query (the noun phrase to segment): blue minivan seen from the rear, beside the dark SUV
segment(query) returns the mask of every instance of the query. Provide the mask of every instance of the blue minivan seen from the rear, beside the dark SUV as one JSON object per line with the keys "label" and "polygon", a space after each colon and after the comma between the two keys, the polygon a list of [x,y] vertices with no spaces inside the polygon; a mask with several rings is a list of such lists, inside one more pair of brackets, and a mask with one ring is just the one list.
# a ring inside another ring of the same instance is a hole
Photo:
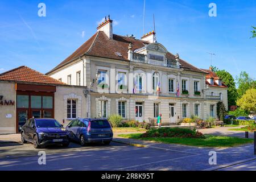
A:
{"label": "blue minivan seen from the rear, beside the dark SUV", "polygon": [[77,118],[66,129],[69,139],[80,142],[81,146],[93,142],[109,144],[113,139],[112,127],[107,119]]}

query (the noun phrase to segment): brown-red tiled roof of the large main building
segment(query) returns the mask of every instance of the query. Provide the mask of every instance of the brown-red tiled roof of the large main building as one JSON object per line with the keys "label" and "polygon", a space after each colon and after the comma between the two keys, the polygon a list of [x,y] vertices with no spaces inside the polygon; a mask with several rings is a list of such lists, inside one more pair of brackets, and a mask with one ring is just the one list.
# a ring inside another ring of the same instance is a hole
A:
{"label": "brown-red tiled roof of the large main building", "polygon": [[[113,34],[113,39],[109,39],[104,32],[98,31],[94,34],[89,40],[87,40],[81,47],[79,47],[75,52],[72,53],[67,59],[62,61],[57,67],[53,68],[51,71],[46,73],[47,75],[57,68],[62,67],[65,64],[70,63],[71,61],[79,58],[82,55],[90,55],[97,57],[106,57],[110,59],[117,60],[128,60],[128,46],[129,43],[133,46],[133,51],[138,48],[142,48],[148,44],[148,42],[129,38],[127,36],[121,36]],[[115,52],[119,52],[122,56],[118,56]],[[175,56],[172,53],[167,53],[168,59],[175,59]],[[199,68],[194,67],[193,65],[187,63],[186,61],[180,59],[181,68],[184,68],[188,71],[205,73]]]}

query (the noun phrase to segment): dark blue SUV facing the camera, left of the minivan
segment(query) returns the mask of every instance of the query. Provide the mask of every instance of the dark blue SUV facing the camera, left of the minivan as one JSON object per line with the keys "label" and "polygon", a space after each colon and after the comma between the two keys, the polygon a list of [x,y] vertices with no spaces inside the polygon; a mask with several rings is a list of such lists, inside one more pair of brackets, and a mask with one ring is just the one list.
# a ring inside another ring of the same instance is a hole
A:
{"label": "dark blue SUV facing the camera, left of the minivan", "polygon": [[20,134],[22,143],[31,142],[35,148],[52,144],[69,145],[68,132],[55,119],[28,119]]}

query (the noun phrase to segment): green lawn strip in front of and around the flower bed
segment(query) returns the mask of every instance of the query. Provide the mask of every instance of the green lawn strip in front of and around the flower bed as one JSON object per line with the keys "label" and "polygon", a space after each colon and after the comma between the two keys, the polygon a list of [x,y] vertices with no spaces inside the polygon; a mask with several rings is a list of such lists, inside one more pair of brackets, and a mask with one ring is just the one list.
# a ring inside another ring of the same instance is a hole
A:
{"label": "green lawn strip in front of and around the flower bed", "polygon": [[167,138],[167,137],[151,137],[141,138],[141,134],[122,134],[118,135],[124,138],[133,138],[141,140],[150,140],[155,142],[171,143],[171,144],[183,144],[187,146],[196,147],[234,147],[242,144],[253,143],[253,139],[237,138],[237,137],[225,137],[205,135],[206,138]]}

